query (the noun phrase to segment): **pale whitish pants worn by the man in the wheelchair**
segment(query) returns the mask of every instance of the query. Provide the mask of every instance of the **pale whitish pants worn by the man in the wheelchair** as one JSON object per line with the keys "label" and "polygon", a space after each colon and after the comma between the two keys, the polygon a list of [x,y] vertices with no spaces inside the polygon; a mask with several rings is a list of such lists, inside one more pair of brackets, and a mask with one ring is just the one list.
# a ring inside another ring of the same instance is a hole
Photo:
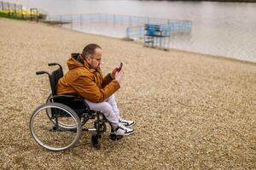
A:
{"label": "pale whitish pants worn by the man in the wheelchair", "polygon": [[108,122],[116,128],[119,124],[119,109],[117,108],[114,95],[111,95],[108,99],[105,99],[101,103],[93,103],[88,99],[84,99],[85,102],[89,105],[90,109],[93,111],[101,111],[102,114],[106,117]]}

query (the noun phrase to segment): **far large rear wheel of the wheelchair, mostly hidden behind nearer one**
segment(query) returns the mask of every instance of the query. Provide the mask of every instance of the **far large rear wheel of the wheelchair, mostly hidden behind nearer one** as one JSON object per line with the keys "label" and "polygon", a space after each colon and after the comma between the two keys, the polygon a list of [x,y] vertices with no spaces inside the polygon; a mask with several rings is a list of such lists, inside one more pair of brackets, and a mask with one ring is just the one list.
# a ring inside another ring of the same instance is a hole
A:
{"label": "far large rear wheel of the wheelchair, mostly hidden behind nearer one", "polygon": [[[51,98],[52,98],[52,94],[49,94],[48,98],[46,99],[46,103],[50,103]],[[49,117],[49,120],[56,124],[55,119],[51,114],[51,110],[47,109],[46,112],[47,112],[47,116]],[[81,126],[83,127],[86,122],[86,121],[84,121],[84,117],[80,117],[80,122],[81,122]],[[67,124],[65,122],[61,122],[61,120],[59,120],[58,125],[62,128],[67,128],[70,130],[74,130],[76,128],[75,124]]]}

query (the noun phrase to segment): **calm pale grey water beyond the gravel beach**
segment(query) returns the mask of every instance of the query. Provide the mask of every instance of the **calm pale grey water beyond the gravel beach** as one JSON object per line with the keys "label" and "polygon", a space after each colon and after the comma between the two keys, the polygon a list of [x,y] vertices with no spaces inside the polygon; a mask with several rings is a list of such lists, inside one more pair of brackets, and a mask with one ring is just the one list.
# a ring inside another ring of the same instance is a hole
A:
{"label": "calm pale grey water beyond the gravel beach", "polygon": [[[191,35],[174,35],[171,48],[256,62],[256,3],[135,0],[9,0],[48,14],[125,14],[193,20]],[[60,8],[61,7],[61,8]],[[109,26],[109,28],[106,28]],[[91,24],[88,32],[125,37],[125,26]]]}

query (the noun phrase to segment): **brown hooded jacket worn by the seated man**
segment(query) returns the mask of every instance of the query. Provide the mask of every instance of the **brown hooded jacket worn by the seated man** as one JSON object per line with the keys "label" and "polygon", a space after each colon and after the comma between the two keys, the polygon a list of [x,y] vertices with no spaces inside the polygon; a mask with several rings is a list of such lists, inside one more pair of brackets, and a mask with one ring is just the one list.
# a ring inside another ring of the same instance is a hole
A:
{"label": "brown hooded jacket worn by the seated man", "polygon": [[57,94],[76,94],[91,102],[102,102],[108,99],[119,88],[119,82],[112,80],[109,75],[102,76],[102,70],[90,68],[90,65],[79,62],[79,54],[71,54],[67,60],[67,71],[59,80]]}

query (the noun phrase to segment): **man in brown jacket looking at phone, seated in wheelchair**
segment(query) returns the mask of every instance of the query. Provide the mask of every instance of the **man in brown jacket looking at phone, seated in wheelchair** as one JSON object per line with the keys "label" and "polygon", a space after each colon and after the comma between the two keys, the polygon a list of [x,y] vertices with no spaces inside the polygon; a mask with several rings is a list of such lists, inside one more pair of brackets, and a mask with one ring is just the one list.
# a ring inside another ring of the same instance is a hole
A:
{"label": "man in brown jacket looking at phone, seated in wheelchair", "polygon": [[102,48],[95,43],[88,44],[82,54],[72,54],[67,61],[69,71],[57,83],[57,94],[81,96],[91,110],[102,112],[116,135],[131,135],[134,133],[131,126],[135,122],[119,116],[113,95],[120,88],[124,71],[115,68],[112,73],[103,77],[101,64]]}

